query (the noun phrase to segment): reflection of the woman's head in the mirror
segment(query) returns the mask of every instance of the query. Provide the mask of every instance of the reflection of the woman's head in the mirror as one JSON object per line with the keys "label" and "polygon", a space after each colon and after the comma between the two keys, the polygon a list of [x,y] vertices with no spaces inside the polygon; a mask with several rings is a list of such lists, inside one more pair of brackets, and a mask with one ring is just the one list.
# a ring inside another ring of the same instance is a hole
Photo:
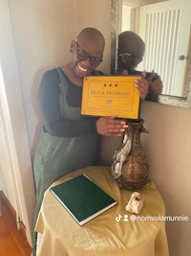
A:
{"label": "reflection of the woman's head in the mirror", "polygon": [[118,35],[117,71],[134,70],[145,51],[143,40],[134,32],[125,31]]}

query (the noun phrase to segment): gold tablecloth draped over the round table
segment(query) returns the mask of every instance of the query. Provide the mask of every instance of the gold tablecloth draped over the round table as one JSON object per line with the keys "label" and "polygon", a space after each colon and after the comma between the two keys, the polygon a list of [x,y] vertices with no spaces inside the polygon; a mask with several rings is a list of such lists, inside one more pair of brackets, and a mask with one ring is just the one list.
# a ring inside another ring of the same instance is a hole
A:
{"label": "gold tablecloth draped over the round table", "polygon": [[[89,175],[97,185],[117,200],[117,205],[94,220],[79,226],[48,189],[36,222],[42,233],[38,256],[168,256],[165,222],[144,220],[165,216],[159,191],[151,181],[139,192],[143,208],[133,221],[125,206],[131,191],[118,188],[111,167],[88,167],[61,177],[57,185],[79,174]],[[128,221],[126,221],[126,215]]]}

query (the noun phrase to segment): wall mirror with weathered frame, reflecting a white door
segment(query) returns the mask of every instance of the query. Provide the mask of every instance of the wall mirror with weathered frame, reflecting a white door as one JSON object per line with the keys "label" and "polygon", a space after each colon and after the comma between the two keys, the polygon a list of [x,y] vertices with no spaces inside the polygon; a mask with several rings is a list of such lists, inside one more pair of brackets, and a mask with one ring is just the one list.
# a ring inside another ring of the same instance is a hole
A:
{"label": "wall mirror with weathered frame, reflecting a white door", "polygon": [[[138,65],[138,70],[150,72],[154,69],[163,82],[159,103],[191,108],[191,28],[188,7],[191,7],[191,3],[186,0],[112,0],[111,3],[112,74],[116,73],[117,68],[117,35],[123,31],[134,31],[142,37],[146,46],[144,60]],[[166,44],[162,45],[163,42]],[[156,58],[150,59],[153,56]]]}

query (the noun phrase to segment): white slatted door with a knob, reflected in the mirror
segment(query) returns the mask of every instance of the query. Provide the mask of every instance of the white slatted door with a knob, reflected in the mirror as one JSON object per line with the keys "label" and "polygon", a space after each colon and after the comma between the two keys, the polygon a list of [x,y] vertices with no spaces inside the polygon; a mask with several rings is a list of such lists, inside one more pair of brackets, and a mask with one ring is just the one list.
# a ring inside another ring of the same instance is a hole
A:
{"label": "white slatted door with a knob, reflected in the mirror", "polygon": [[155,69],[163,81],[162,94],[181,96],[188,62],[191,1],[170,0],[141,7],[139,35],[146,45],[142,68]]}

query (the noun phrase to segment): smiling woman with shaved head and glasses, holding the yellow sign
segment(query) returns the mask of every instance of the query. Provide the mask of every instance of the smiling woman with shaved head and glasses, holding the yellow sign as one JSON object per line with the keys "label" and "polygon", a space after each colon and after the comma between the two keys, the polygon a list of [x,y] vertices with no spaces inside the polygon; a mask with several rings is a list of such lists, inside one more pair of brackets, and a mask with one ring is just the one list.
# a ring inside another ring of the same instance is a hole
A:
{"label": "smiling woman with shaved head and glasses, holding the yellow sign", "polygon": [[[36,189],[36,221],[48,187],[74,170],[96,165],[98,134],[120,136],[127,127],[115,117],[81,116],[83,78],[96,74],[103,58],[105,40],[94,28],[86,28],[70,46],[71,61],[47,71],[38,92],[43,120],[33,162]],[[35,255],[35,243],[33,255]]]}

